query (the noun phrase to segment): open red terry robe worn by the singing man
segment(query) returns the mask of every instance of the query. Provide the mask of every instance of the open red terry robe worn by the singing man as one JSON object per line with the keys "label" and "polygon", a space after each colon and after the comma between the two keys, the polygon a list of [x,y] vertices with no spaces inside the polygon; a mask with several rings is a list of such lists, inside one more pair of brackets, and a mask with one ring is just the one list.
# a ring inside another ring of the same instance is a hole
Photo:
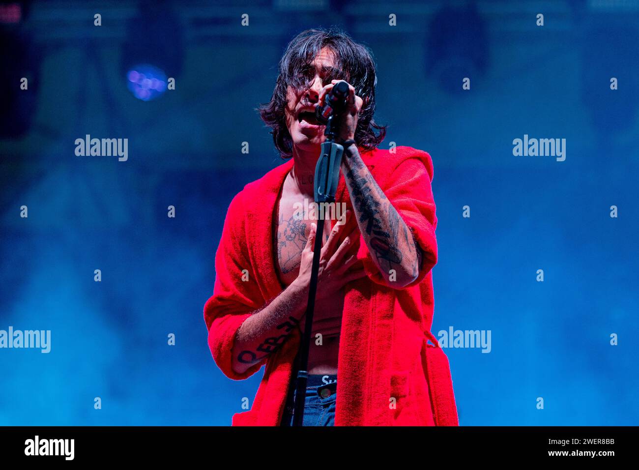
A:
{"label": "open red terry robe worn by the singing man", "polygon": [[[360,236],[357,257],[367,277],[352,281],[344,291],[335,425],[458,425],[448,359],[430,332],[431,269],[437,262],[433,162],[428,153],[401,146],[395,153],[376,149],[361,155],[424,257],[413,283],[390,288]],[[234,426],[279,425],[300,344],[300,334],[293,330],[279,350],[246,372],[231,368],[238,327],[282,292],[274,264],[272,219],[292,166],[290,159],[245,185],[233,198],[215,255],[215,286],[204,306],[213,359],[235,380],[246,379],[266,364],[252,408],[236,413]],[[352,209],[341,173],[335,199]]]}

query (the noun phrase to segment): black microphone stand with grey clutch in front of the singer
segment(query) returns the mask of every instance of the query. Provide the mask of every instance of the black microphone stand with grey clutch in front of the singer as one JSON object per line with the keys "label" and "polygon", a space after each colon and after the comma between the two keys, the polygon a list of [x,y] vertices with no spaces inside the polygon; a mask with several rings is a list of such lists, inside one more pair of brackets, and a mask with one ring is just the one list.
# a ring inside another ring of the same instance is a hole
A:
{"label": "black microphone stand with grey clutch in front of the singer", "polygon": [[[348,90],[348,88],[347,88]],[[327,137],[321,145],[319,160],[315,166],[314,198],[315,202],[335,202],[335,191],[339,182],[339,168],[342,164],[344,147],[335,143],[337,121],[335,114],[328,116],[324,135]],[[321,214],[321,212],[320,212]],[[324,235],[324,217],[318,219],[315,231],[315,243],[313,247],[313,263],[311,268],[311,282],[309,284],[309,301],[306,305],[306,320],[304,323],[304,335],[300,343],[300,357],[297,369],[297,386],[295,395],[295,411],[293,414],[293,426],[302,426],[304,421],[304,401],[309,365],[309,347],[311,346],[311,328],[315,308],[315,294],[317,292],[319,257],[321,256],[322,237]]]}

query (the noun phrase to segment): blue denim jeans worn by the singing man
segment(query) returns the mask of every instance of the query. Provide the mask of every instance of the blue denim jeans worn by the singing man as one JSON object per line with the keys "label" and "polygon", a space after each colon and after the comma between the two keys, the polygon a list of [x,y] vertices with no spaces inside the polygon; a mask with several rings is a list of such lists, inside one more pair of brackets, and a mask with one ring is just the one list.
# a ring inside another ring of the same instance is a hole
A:
{"label": "blue denim jeans worn by the singing man", "polygon": [[[327,384],[326,382],[330,382]],[[297,396],[296,380],[292,394],[284,409],[282,426],[293,426],[294,400]],[[292,396],[292,399],[291,399]],[[337,375],[309,375],[304,396],[304,419],[302,426],[333,426],[335,423],[335,398],[337,397]]]}

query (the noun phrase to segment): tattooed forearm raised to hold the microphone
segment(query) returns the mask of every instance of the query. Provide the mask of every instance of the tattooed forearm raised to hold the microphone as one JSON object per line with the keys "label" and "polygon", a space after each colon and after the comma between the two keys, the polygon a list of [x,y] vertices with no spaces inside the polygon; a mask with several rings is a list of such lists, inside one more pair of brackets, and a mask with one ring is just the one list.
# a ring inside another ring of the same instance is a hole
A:
{"label": "tattooed forearm raised to hold the microphone", "polygon": [[351,146],[351,156],[344,157],[342,164],[360,231],[381,274],[392,280],[389,271],[394,269],[395,285],[408,285],[417,278],[420,266],[412,232],[381,191],[355,146]]}

